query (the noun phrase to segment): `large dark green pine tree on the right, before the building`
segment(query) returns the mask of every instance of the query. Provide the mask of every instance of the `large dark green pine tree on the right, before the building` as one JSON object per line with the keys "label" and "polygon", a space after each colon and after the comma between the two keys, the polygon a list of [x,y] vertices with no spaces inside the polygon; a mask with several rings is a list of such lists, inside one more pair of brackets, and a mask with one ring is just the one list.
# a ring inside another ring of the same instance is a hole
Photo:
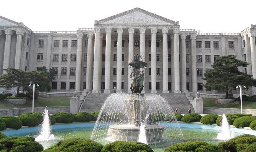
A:
{"label": "large dark green pine tree on the right, before the building", "polygon": [[202,79],[206,80],[206,84],[203,86],[207,90],[226,92],[226,98],[231,93],[232,88],[237,85],[256,86],[256,79],[238,70],[238,67],[247,67],[247,65],[249,63],[238,60],[237,55],[219,57],[214,61],[213,69],[204,73],[204,78]]}

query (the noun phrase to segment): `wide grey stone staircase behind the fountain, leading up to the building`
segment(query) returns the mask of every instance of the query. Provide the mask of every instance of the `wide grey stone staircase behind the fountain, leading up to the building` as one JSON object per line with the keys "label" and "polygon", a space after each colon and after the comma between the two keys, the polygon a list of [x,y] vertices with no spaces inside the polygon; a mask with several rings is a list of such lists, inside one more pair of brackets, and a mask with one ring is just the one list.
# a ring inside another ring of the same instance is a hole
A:
{"label": "wide grey stone staircase behind the fountain, leading up to the building", "polygon": [[[89,93],[80,111],[92,112],[100,110],[110,94],[111,93]],[[186,114],[191,107],[191,112],[194,112],[193,106],[190,104],[184,93],[159,93],[159,95],[172,106],[173,111],[175,111],[175,108],[177,107],[179,113]]]}

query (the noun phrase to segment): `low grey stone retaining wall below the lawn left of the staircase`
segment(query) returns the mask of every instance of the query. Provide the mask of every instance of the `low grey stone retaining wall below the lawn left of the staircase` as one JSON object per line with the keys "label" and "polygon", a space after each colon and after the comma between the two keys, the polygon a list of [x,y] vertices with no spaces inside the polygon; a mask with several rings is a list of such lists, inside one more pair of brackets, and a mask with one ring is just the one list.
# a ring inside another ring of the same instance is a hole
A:
{"label": "low grey stone retaining wall below the lawn left of the staircase", "polygon": [[[34,112],[43,112],[46,107],[35,107]],[[54,114],[58,111],[69,112],[70,107],[47,107],[49,114]],[[15,108],[15,109],[0,109],[0,116],[19,116],[23,112],[32,112],[32,108]]]}

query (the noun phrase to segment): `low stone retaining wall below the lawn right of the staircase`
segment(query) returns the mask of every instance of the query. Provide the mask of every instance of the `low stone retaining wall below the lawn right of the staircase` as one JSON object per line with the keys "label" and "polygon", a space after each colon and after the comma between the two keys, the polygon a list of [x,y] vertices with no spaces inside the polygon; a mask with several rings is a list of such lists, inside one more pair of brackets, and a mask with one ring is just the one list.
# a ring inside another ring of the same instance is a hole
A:
{"label": "low stone retaining wall below the lawn right of the staircase", "polygon": [[[233,114],[233,113],[241,113],[241,109],[204,107],[204,114]],[[243,113],[253,114],[253,116],[256,116],[256,109],[243,109]]]}

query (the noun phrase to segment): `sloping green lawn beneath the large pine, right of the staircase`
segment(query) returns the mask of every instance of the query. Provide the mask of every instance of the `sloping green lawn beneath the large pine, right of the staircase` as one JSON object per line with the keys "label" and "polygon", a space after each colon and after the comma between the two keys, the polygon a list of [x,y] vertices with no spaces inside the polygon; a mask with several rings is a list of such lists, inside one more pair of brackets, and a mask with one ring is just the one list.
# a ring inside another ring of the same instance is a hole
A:
{"label": "sloping green lawn beneath the large pine, right of the staircase", "polygon": [[[204,107],[215,108],[241,108],[240,101],[234,101],[229,104],[219,104],[217,99],[203,98]],[[243,101],[243,109],[256,109],[256,102]]]}

